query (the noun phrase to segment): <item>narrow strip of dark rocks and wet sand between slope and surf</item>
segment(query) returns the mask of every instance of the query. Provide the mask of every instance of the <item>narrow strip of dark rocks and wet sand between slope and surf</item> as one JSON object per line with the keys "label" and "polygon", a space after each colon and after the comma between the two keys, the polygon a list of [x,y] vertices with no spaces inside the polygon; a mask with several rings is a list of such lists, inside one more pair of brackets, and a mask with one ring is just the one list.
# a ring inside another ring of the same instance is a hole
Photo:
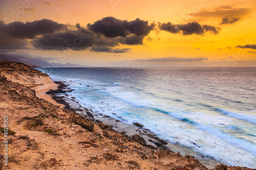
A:
{"label": "narrow strip of dark rocks and wet sand between slope and surf", "polygon": [[[196,159],[199,159],[209,169],[215,168],[216,165],[221,164],[221,162],[218,162],[215,159],[206,158],[204,155],[197,154],[190,149],[164,141],[149,129],[143,128],[143,125],[139,123],[125,124],[113,117],[98,114],[91,109],[89,110],[88,108],[84,108],[76,101],[75,98],[71,100],[68,99],[68,94],[66,92],[73,91],[69,87],[68,82],[58,80],[56,82],[54,81],[54,83],[59,85],[58,88],[47,92],[53,96],[52,99],[58,104],[64,105],[64,108],[75,111],[77,114],[92,120],[94,123],[104,123],[109,125],[114,131],[129,137],[132,137],[134,134],[138,134],[144,138],[147,144],[153,145],[154,147],[162,150],[170,151],[172,153],[181,153],[183,156],[187,154],[195,155]],[[56,93],[58,94],[55,95]],[[72,105],[71,102],[75,105]]]}

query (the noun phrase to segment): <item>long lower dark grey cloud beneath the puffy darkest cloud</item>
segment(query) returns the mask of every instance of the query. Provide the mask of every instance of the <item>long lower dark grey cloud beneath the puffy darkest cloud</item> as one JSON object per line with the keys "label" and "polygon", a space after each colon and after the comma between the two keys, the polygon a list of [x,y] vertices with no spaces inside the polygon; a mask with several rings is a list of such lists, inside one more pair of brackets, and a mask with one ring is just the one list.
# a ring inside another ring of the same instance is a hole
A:
{"label": "long lower dark grey cloud beneath the puffy darkest cloud", "polygon": [[[118,46],[120,44],[136,45],[143,44],[144,36],[127,36],[108,38],[99,34],[95,34],[80,25],[76,26],[77,30],[66,30],[65,32],[57,32],[54,34],[45,34],[31,41],[32,45],[42,50],[87,50],[93,47],[93,51],[100,52],[103,46],[108,52],[109,47]],[[98,47],[97,47],[98,46]],[[95,49],[95,50],[94,50]],[[104,50],[103,49],[103,50]],[[112,52],[112,51],[111,51]],[[115,51],[117,53],[118,51]],[[122,51],[120,51],[122,53]]]}

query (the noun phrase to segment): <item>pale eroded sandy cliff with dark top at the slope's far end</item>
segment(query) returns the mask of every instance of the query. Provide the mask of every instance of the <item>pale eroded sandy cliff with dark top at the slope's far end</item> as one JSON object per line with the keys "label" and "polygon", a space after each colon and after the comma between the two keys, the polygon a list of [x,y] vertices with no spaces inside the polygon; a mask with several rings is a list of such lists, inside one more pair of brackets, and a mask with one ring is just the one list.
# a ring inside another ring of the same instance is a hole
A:
{"label": "pale eroded sandy cliff with dark top at the slope's far end", "polygon": [[0,71],[8,81],[26,85],[36,91],[57,87],[47,74],[23,63],[0,61]]}

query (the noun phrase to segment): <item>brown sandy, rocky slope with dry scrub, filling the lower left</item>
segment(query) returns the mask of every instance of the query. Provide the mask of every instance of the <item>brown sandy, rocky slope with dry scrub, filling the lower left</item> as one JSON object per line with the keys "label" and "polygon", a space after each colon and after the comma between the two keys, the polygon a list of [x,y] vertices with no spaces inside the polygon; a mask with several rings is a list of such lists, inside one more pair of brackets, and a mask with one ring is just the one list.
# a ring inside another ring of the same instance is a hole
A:
{"label": "brown sandy, rocky slope with dry scrub, filling the lower left", "polygon": [[[92,110],[73,109],[57,96],[53,97],[65,108],[38,98],[35,90],[51,88],[50,95],[56,90],[72,90],[60,82],[56,82],[56,89],[48,75],[38,70],[0,61],[0,71],[0,169],[207,169],[194,157],[161,148],[165,141],[157,136],[151,139],[161,143],[153,142],[159,148],[148,144],[139,133],[118,133],[95,118]],[[86,114],[76,113],[79,111]],[[8,137],[3,133],[4,116],[8,116]],[[143,131],[143,125],[134,126]],[[5,138],[8,152],[4,151]],[[4,164],[6,153],[8,166]],[[221,164],[215,169],[250,168]]]}

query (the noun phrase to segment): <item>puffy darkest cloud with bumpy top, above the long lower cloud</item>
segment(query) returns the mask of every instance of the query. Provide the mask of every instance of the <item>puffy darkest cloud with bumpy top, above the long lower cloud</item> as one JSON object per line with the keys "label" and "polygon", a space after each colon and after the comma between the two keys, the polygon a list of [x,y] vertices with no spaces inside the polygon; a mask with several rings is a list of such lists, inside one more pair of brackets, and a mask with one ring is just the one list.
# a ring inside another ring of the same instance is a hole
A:
{"label": "puffy darkest cloud with bumpy top, above the long lower cloud", "polygon": [[89,30],[100,33],[105,37],[126,37],[134,34],[136,36],[146,36],[155,27],[154,23],[148,25],[147,21],[137,18],[133,21],[120,20],[115,17],[105,17],[87,25]]}

